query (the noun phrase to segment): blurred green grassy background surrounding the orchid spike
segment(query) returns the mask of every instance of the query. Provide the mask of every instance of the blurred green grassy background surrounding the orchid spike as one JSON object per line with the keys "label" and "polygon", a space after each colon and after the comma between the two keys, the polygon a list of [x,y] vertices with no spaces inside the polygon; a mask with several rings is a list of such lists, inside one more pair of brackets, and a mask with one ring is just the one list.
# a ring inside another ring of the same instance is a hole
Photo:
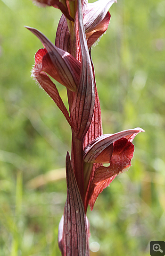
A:
{"label": "blurred green grassy background surrounding the orchid spike", "polygon": [[[60,256],[70,128],[30,77],[42,45],[24,25],[54,42],[61,14],[31,0],[1,0],[0,10],[0,256]],[[149,256],[149,241],[165,239],[165,0],[118,0],[110,13],[92,49],[103,130],[146,132],[129,172],[88,211],[91,256]]]}

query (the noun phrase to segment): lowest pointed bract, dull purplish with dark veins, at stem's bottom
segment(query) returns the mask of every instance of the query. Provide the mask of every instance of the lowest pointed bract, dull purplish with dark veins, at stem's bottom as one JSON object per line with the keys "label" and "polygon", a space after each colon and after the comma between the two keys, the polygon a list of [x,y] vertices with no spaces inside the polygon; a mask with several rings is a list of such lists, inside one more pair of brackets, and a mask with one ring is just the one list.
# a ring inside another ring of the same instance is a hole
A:
{"label": "lowest pointed bract, dull purplish with dark veins, at stem's bottom", "polygon": [[74,176],[69,153],[66,155],[67,199],[64,209],[63,238],[60,249],[64,256],[89,256],[89,231],[82,198]]}

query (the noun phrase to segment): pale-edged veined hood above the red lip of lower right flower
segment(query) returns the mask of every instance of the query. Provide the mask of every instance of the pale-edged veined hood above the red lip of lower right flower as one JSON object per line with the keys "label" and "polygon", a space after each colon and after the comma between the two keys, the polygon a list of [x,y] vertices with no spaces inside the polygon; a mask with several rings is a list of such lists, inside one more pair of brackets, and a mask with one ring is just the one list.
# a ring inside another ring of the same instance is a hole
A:
{"label": "pale-edged veined hood above the red lip of lower right flower", "polygon": [[[94,163],[100,155],[100,153],[108,148],[113,142],[125,137],[125,136],[134,136],[139,132],[144,132],[141,128],[135,128],[130,130],[124,130],[122,132],[117,132],[115,134],[103,134],[93,140],[89,145],[87,145],[83,152],[83,159],[87,163]],[[105,161],[105,159],[104,159]],[[106,160],[109,162],[109,159]]]}

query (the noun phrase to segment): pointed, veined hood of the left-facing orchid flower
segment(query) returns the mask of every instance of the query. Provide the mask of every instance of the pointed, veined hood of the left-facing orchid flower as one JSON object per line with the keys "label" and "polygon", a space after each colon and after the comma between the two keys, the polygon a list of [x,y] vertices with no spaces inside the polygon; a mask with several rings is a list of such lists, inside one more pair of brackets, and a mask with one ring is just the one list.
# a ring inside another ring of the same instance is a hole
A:
{"label": "pointed, veined hood of the left-facing orchid flower", "polygon": [[49,39],[37,29],[27,26],[25,27],[36,35],[45,46],[51,62],[58,72],[58,76],[63,84],[65,84],[71,91],[75,91],[80,75],[80,63],[71,54],[52,44]]}

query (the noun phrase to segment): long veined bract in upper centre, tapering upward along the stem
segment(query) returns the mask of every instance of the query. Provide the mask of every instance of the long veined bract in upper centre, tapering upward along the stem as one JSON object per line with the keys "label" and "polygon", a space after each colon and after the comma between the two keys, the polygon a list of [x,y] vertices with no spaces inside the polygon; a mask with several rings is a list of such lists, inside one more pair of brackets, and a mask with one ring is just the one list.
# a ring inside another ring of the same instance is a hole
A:
{"label": "long veined bract in upper centre, tapering upward along the stem", "polygon": [[82,21],[81,0],[77,2],[76,38],[77,52],[80,52],[81,56],[81,73],[79,86],[75,92],[71,109],[71,120],[74,124],[77,138],[82,140],[91,124],[95,104],[95,92],[91,60]]}

